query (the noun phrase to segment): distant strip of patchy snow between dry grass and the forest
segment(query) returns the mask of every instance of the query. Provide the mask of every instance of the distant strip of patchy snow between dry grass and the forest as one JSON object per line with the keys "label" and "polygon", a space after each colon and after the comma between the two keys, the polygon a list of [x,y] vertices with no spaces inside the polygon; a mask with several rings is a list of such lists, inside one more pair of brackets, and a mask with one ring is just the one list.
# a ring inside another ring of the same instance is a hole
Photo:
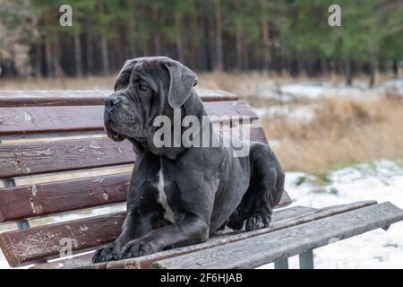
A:
{"label": "distant strip of patchy snow between dry grass and the forest", "polygon": [[269,81],[248,85],[245,95],[257,96],[267,100],[317,100],[321,98],[346,98],[352,100],[373,100],[382,93],[390,92],[403,97],[403,79],[395,79],[381,83],[375,88],[367,83],[356,81],[353,85],[334,85],[330,82],[300,82],[279,85]]}

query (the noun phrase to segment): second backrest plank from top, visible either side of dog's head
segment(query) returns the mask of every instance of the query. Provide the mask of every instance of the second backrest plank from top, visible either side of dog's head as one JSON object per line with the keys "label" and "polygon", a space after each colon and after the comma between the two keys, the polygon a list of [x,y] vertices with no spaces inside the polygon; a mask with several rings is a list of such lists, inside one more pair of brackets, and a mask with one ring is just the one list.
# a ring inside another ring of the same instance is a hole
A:
{"label": "second backrest plank from top, visible either side of dog's head", "polygon": [[[258,119],[243,100],[204,103],[212,116]],[[0,108],[0,136],[99,131],[103,133],[103,106]]]}

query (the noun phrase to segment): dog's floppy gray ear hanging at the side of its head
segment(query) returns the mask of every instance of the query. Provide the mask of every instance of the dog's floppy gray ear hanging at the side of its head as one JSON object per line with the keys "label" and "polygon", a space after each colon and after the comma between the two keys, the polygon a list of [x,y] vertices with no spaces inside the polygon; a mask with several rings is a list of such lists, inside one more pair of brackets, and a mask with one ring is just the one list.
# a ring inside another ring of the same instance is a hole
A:
{"label": "dog's floppy gray ear hanging at the side of its head", "polygon": [[169,72],[168,103],[174,109],[181,107],[197,84],[196,74],[176,61],[167,61]]}

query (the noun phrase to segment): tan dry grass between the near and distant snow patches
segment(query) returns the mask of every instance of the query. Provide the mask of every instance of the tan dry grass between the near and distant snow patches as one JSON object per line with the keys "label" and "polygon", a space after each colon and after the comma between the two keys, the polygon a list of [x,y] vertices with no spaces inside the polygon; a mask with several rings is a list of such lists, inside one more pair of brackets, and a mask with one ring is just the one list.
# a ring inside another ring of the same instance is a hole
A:
{"label": "tan dry grass between the near and distant snow patches", "polygon": [[403,158],[403,100],[322,100],[310,123],[262,119],[285,170],[325,175],[352,163]]}

